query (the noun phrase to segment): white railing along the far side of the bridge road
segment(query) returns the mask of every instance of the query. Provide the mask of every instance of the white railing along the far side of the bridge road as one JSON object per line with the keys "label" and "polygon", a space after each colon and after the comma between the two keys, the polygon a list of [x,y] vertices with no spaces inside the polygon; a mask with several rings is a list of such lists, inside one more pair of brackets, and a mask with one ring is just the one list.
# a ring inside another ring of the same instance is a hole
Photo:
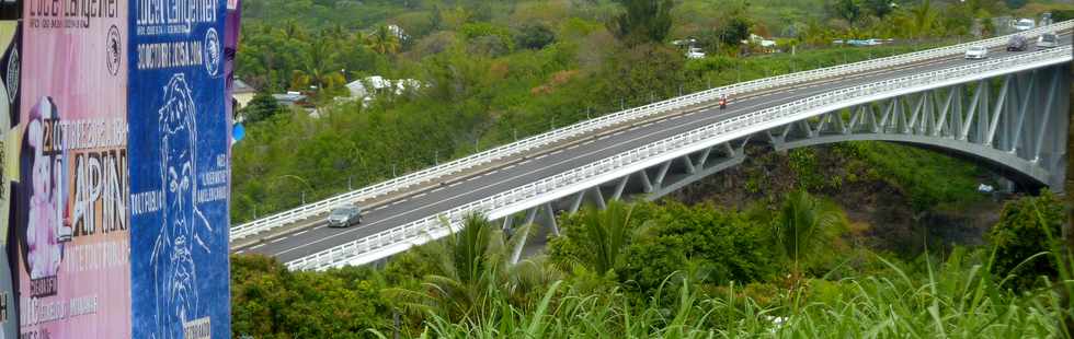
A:
{"label": "white railing along the far side of the bridge road", "polygon": [[[1074,21],[1065,21],[1049,26],[1020,33],[1025,36],[1037,36],[1044,32],[1065,31],[1074,27]],[[964,43],[955,46],[935,48],[929,50],[904,54],[893,57],[872,59],[867,61],[841,65],[823,69],[789,73],[778,77],[758,79],[754,81],[736,83],[723,87],[706,90],[684,96],[670,98],[666,101],[649,104],[621,110],[615,114],[605,115],[598,118],[581,121],[560,129],[556,129],[541,135],[533,136],[510,144],[501,145],[484,152],[458,159],[438,166],[425,168],[410,173],[387,182],[373,186],[364,187],[354,191],[341,194],[324,200],[308,203],[288,211],[272,214],[270,217],[250,221],[231,227],[231,239],[240,239],[247,236],[256,235],[283,225],[307,220],[309,218],[327,213],[332,208],[343,203],[362,202],[369,199],[382,197],[388,194],[401,191],[418,185],[433,183],[445,176],[456,174],[468,168],[473,168],[498,160],[522,154],[532,150],[546,147],[562,140],[583,136],[596,130],[616,126],[619,124],[643,119],[669,110],[689,107],[693,105],[712,102],[720,95],[735,95],[767,89],[780,87],[819,79],[833,78],[858,73],[869,70],[884,69],[900,65],[913,63],[964,52],[968,46],[998,47],[1007,43],[1009,36],[1001,36],[984,40]]]}

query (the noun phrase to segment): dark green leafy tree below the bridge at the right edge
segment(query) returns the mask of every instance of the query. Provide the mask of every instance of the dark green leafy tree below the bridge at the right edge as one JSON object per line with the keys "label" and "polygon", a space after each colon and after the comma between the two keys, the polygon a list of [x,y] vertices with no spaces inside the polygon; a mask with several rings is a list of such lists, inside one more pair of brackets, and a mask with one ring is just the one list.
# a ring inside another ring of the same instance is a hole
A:
{"label": "dark green leafy tree below the bridge at the right edge", "polygon": [[995,246],[994,271],[1008,277],[1016,290],[1035,287],[1040,277],[1056,277],[1055,256],[1035,256],[1063,250],[1064,217],[1063,202],[1048,190],[1004,204],[999,222],[989,232]]}

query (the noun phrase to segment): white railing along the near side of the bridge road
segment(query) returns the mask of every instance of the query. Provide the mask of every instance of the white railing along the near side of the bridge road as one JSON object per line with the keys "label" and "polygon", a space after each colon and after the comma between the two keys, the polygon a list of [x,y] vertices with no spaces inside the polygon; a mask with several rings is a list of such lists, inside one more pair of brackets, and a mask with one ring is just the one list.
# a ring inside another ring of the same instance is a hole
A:
{"label": "white railing along the near side of the bridge road", "polygon": [[[458,230],[467,213],[482,212],[498,219],[551,201],[602,182],[628,175],[690,152],[721,142],[761,132],[797,120],[830,112],[830,108],[868,103],[882,96],[904,94],[915,87],[955,84],[1043,65],[1069,62],[1071,46],[1026,52],[1013,57],[913,74],[898,79],[847,87],[744,114],[686,133],[677,135],[625,153],[574,168],[515,189],[454,208],[442,214],[418,220],[353,241],[297,260],[286,262],[289,269],[321,270],[340,265],[358,265],[405,250],[412,245],[439,238]],[[974,78],[976,77],[976,78]]]}

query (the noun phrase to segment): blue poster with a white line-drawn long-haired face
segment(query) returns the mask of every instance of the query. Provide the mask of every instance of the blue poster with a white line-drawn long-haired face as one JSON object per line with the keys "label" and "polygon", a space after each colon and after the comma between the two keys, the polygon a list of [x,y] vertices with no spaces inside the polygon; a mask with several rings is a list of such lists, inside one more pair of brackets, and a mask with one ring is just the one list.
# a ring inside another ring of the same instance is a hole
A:
{"label": "blue poster with a white line-drawn long-haired face", "polygon": [[135,338],[230,337],[225,0],[134,0]]}

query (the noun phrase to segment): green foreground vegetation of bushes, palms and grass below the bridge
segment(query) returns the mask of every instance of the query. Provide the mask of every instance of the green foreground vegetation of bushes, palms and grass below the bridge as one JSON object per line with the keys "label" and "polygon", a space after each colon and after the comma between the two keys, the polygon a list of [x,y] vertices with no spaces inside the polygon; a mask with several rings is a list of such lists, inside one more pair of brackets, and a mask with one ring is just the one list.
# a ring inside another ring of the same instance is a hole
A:
{"label": "green foreground vegetation of bushes, palms and grass below the bridge", "polygon": [[[1063,209],[1048,192],[1022,198],[1005,207],[994,245],[901,258],[858,245],[839,209],[801,191],[776,211],[613,203],[564,219],[547,255],[518,264],[507,261],[514,238],[475,215],[384,268],[289,272],[233,257],[232,328],[256,338],[1062,337],[1074,261],[1046,243]],[[1012,232],[1046,236],[1013,244]]]}

